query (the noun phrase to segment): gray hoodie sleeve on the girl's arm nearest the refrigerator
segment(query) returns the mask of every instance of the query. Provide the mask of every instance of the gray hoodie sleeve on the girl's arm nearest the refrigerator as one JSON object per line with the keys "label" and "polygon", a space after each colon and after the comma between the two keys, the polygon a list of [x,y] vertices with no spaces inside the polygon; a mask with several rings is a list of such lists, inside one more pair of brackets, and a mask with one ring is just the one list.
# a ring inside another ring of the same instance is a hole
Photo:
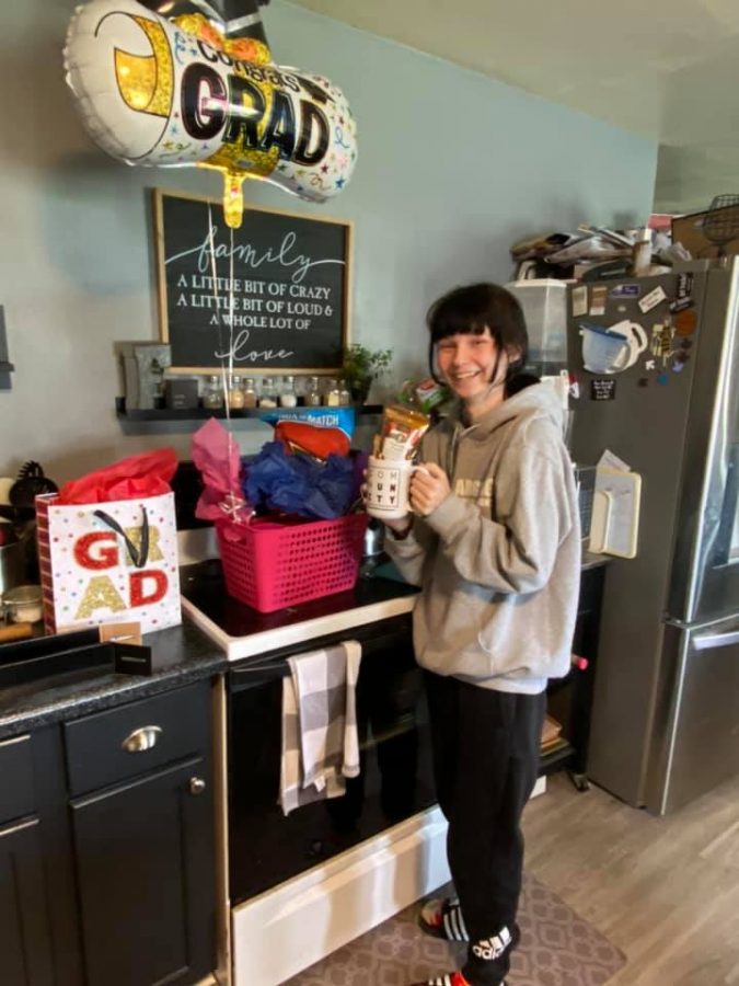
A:
{"label": "gray hoodie sleeve on the girl's arm nearest the refrigerator", "polygon": [[546,584],[573,526],[566,468],[556,447],[509,448],[496,470],[490,516],[452,493],[426,517],[462,578],[497,593],[533,593]]}

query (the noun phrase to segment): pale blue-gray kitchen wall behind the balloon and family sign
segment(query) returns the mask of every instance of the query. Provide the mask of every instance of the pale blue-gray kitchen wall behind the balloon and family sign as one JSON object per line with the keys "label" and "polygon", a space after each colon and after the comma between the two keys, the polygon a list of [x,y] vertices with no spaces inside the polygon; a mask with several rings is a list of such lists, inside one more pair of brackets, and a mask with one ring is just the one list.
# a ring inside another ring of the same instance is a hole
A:
{"label": "pale blue-gray kitchen wall behind the balloon and family sign", "polygon": [[[128,168],[91,144],[63,82],[71,12],[7,7],[0,41],[0,303],[16,366],[0,392],[0,474],[34,458],[58,481],[154,445],[187,457],[186,433],[123,433],[113,342],[158,336],[148,190],[220,194],[215,174]],[[353,337],[393,346],[397,380],[424,371],[430,301],[506,280],[515,240],[650,211],[653,142],[282,0],[264,18],[277,61],[345,90],[360,157],[325,207],[255,184],[247,199],[354,221]],[[268,432],[239,434],[253,447]]]}

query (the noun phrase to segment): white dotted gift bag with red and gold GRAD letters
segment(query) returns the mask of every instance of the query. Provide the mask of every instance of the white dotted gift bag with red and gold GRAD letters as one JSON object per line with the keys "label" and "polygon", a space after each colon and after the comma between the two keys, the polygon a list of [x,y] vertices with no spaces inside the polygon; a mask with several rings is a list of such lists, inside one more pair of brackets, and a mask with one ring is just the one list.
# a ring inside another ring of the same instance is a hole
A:
{"label": "white dotted gift bag with red and gold GRAD letters", "polygon": [[182,622],[174,494],[58,498],[36,497],[46,631],[136,620],[146,633]]}

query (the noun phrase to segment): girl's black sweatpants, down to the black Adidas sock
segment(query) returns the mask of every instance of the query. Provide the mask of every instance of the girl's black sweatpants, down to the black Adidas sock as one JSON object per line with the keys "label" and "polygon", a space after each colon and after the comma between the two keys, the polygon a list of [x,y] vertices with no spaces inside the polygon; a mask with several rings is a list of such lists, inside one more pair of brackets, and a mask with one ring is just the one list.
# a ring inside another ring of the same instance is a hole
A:
{"label": "girl's black sweatpants, down to the black Adidas sock", "polygon": [[[449,869],[470,935],[462,973],[473,986],[498,986],[519,939],[520,823],[536,781],[546,698],[431,672],[425,679],[437,795],[449,823]],[[503,929],[512,940],[498,955]]]}

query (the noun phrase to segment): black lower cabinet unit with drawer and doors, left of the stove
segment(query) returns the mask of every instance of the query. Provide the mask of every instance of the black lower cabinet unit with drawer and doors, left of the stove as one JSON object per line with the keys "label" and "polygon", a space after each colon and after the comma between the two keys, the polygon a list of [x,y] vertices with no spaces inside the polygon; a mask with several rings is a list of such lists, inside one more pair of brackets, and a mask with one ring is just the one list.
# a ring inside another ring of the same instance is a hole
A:
{"label": "black lower cabinet unit with drawer and doors, left of the stove", "polygon": [[204,680],[7,742],[2,986],[188,986],[212,972],[210,731]]}

